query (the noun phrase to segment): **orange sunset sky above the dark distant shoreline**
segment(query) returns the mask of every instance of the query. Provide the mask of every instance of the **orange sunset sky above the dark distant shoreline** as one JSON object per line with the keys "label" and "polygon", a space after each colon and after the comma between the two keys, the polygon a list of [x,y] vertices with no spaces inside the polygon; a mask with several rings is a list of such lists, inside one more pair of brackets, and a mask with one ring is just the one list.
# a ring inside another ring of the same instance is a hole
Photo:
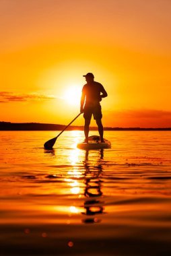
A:
{"label": "orange sunset sky above the dark distant shoreline", "polygon": [[1,0],[0,121],[67,125],[92,72],[104,126],[171,127],[170,13],[170,0]]}

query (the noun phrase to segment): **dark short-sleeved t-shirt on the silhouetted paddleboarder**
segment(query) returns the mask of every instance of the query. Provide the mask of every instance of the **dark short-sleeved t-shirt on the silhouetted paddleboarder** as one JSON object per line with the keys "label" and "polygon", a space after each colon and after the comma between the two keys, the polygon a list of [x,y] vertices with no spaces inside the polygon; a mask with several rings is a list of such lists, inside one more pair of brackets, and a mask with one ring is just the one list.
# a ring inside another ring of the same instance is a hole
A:
{"label": "dark short-sleeved t-shirt on the silhouetted paddleboarder", "polygon": [[98,82],[92,82],[91,84],[85,84],[82,90],[83,94],[86,95],[86,105],[100,104],[101,101],[100,93],[104,93],[104,87]]}

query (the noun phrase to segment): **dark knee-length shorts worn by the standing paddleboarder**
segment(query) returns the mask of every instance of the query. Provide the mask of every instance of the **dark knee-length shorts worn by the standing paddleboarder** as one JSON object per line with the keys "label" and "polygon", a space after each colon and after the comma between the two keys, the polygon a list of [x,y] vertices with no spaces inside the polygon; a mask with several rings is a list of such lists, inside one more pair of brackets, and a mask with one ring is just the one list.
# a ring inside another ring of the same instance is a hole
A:
{"label": "dark knee-length shorts worn by the standing paddleboarder", "polygon": [[95,120],[102,119],[102,107],[98,106],[85,106],[83,110],[84,119],[92,119],[92,115]]}

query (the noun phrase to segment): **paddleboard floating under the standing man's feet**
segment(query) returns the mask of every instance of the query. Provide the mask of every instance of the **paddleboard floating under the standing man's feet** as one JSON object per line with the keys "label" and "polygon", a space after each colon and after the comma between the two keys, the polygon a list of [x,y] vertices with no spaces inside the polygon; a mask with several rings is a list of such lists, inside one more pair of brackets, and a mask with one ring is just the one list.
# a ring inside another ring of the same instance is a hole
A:
{"label": "paddleboard floating under the standing man's feet", "polygon": [[84,141],[77,143],[77,148],[81,150],[101,150],[103,148],[111,148],[111,143],[107,139],[101,142],[99,136],[93,135],[88,137],[88,143]]}

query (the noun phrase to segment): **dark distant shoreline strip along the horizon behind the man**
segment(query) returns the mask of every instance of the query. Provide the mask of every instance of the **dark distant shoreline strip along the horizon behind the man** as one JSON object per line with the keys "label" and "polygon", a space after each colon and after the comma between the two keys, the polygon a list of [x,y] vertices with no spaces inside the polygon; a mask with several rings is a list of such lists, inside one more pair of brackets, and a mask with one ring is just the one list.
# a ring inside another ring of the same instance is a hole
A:
{"label": "dark distant shoreline strip along the horizon behind the man", "polygon": [[[66,125],[55,125],[49,123],[11,123],[0,122],[0,131],[61,131]],[[83,126],[70,126],[68,131],[83,131]],[[91,131],[97,131],[97,127],[90,127]],[[166,128],[141,128],[141,127],[104,127],[105,131],[171,131]]]}

